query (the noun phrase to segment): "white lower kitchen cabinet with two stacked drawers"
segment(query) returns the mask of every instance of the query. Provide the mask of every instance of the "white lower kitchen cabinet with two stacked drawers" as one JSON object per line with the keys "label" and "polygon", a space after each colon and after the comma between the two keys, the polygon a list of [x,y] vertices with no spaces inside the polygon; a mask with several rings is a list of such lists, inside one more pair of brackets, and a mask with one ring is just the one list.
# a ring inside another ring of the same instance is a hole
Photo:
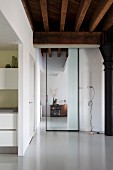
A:
{"label": "white lower kitchen cabinet with two stacked drawers", "polygon": [[0,147],[18,146],[17,120],[16,112],[0,112]]}

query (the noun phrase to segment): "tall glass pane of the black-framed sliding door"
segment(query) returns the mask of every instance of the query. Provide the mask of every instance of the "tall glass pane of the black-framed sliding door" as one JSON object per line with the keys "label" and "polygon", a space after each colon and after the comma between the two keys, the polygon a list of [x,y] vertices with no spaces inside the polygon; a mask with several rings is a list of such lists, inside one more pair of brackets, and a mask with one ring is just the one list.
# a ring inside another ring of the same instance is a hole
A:
{"label": "tall glass pane of the black-framed sliding door", "polygon": [[78,49],[46,58],[46,130],[78,130]]}

